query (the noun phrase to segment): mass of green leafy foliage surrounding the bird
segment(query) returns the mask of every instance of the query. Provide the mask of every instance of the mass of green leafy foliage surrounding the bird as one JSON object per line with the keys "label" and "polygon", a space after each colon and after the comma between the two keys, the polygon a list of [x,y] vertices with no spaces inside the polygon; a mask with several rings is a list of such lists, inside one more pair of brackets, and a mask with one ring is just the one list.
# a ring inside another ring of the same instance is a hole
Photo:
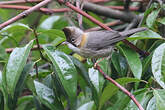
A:
{"label": "mass of green leafy foliage surrounding the bird", "polygon": [[[104,5],[110,4],[121,1]],[[159,16],[162,10],[165,6],[153,3],[144,12],[142,22],[149,30],[128,38],[150,52],[149,56],[140,56],[120,42],[111,59],[99,63],[106,74],[131,91],[145,110],[165,110],[165,42],[158,28],[165,24],[165,18]],[[0,12],[0,22],[4,22],[13,10]],[[104,23],[113,21],[93,12],[88,14]],[[91,59],[72,55],[66,45],[59,45],[66,40],[62,29],[76,22],[71,23],[65,16],[35,12],[0,30],[0,110],[137,110],[126,94],[93,68]],[[96,26],[85,17],[83,25],[85,29]],[[36,45],[33,30],[48,61],[42,59],[39,50],[30,51]],[[8,48],[14,49],[8,52]]]}

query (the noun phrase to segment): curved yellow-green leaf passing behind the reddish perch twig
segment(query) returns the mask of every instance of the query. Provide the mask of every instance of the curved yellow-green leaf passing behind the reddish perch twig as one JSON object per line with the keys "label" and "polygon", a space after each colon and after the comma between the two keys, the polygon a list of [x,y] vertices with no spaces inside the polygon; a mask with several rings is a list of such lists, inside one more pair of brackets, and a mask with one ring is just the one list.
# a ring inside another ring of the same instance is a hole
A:
{"label": "curved yellow-green leaf passing behind the reddish perch twig", "polygon": [[[119,78],[119,79],[116,80],[116,82],[118,82],[118,83],[121,84],[122,86],[125,85],[125,84],[127,84],[127,83],[131,83],[131,82],[140,82],[140,81],[141,81],[141,80],[136,79],[136,78]],[[105,87],[105,89],[104,89],[104,91],[103,91],[103,93],[102,93],[102,95],[101,95],[101,97],[100,97],[99,110],[100,110],[101,107],[105,104],[105,102],[106,102],[107,100],[109,100],[114,94],[117,93],[118,90],[119,90],[119,88],[116,87],[116,86],[115,86],[114,84],[112,84],[112,83],[109,83],[109,84]]]}

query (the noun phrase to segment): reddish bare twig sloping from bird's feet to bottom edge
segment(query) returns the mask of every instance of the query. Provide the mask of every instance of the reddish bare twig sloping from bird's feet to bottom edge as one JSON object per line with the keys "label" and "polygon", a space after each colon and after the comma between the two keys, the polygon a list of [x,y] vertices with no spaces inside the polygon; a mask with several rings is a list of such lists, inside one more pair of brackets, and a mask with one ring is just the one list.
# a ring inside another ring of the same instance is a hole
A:
{"label": "reddish bare twig sloping from bird's feet to bottom edge", "polygon": [[111,83],[113,83],[115,86],[117,86],[121,91],[123,91],[126,95],[128,95],[133,100],[133,102],[137,105],[139,110],[144,110],[143,107],[140,105],[140,103],[136,100],[136,98],[127,89],[125,89],[123,86],[121,86],[115,80],[113,80],[111,77],[106,75],[98,64],[96,65],[96,68],[104,76],[105,79],[109,80]]}

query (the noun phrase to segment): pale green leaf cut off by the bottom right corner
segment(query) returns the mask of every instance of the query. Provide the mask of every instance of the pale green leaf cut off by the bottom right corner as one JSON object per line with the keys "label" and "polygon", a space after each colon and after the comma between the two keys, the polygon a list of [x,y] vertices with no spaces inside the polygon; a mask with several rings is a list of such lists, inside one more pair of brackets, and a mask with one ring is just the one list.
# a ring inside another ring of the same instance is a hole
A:
{"label": "pale green leaf cut off by the bottom right corner", "polygon": [[154,90],[156,99],[156,108],[158,110],[165,110],[165,89]]}

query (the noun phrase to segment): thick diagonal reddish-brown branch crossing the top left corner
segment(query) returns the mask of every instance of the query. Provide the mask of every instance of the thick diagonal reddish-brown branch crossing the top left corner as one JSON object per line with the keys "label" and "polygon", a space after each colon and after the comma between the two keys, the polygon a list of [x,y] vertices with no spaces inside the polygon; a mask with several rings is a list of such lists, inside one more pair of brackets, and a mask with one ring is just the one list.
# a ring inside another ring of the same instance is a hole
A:
{"label": "thick diagonal reddish-brown branch crossing the top left corner", "polygon": [[49,2],[51,2],[51,0],[44,0],[44,1],[40,2],[39,4],[35,5],[34,7],[30,8],[30,9],[28,9],[28,10],[22,12],[22,13],[20,13],[19,15],[15,16],[15,17],[13,17],[11,19],[9,19],[8,21],[0,24],[0,29],[8,26],[11,23],[14,23],[14,22],[18,21],[19,19],[22,19],[22,18],[26,17],[27,15],[29,15],[33,11],[38,10],[40,7],[45,6]]}

